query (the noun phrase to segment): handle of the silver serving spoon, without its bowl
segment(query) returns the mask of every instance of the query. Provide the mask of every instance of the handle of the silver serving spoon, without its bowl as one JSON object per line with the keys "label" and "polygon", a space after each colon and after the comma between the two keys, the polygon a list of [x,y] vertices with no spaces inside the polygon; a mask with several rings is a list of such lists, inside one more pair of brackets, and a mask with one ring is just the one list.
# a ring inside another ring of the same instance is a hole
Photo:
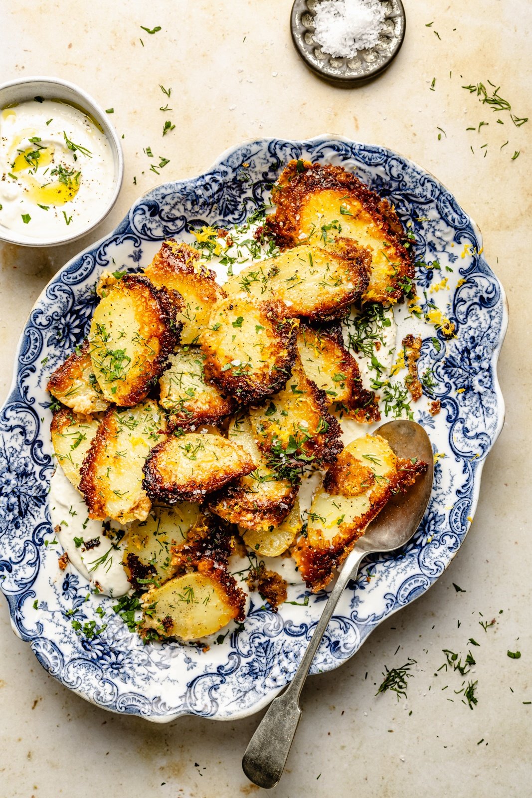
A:
{"label": "handle of the silver serving spoon, without its bowl", "polygon": [[345,560],[344,567],[325,603],[321,618],[317,622],[298,670],[294,674],[294,679],[285,692],[271,702],[266,715],[250,739],[242,759],[242,768],[248,779],[254,784],[258,784],[259,787],[270,789],[278,783],[282,776],[301,717],[299,695],[312,665],[314,654],[317,652],[321,638],[327,630],[345,586],[349,579],[353,579],[357,575],[358,567],[366,554],[366,551],[354,549]]}

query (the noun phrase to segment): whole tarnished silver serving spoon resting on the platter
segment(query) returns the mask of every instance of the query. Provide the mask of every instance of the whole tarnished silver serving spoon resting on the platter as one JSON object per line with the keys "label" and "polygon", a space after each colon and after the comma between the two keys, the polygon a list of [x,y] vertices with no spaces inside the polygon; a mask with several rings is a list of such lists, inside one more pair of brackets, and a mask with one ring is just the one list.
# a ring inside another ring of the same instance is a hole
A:
{"label": "whole tarnished silver serving spoon resting on the platter", "polygon": [[415,421],[388,421],[375,430],[388,440],[400,457],[417,457],[428,463],[427,473],[419,476],[408,492],[394,496],[370,523],[345,560],[337,582],[325,603],[321,618],[299,663],[294,679],[282,695],[274,698],[259,723],[246,753],[242,768],[246,776],[259,787],[270,789],[278,784],[285,768],[290,746],[298,728],[301,709],[299,696],[312,665],[314,654],[349,579],[355,579],[358,567],[366,555],[376,551],[393,551],[412,537],[428,506],[434,477],[432,445],[423,427]]}

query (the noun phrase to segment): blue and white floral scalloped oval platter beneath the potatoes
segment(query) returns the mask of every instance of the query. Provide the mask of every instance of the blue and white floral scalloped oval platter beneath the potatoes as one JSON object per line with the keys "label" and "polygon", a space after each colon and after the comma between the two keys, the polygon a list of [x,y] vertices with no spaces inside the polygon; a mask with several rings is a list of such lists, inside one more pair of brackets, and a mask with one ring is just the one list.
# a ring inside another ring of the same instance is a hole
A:
{"label": "blue and white floral scalloped oval platter beneath the potatoes", "polygon": [[[191,226],[242,223],[269,200],[286,163],[300,157],[353,170],[395,205],[403,222],[412,224],[415,259],[427,264],[416,275],[418,293],[429,295],[447,276],[437,302],[455,324],[455,337],[445,340],[406,310],[396,316],[399,340],[417,322],[424,339],[420,372],[432,369],[433,398],[441,401],[435,417],[426,398],[414,405],[437,455],[432,499],[412,541],[394,555],[366,560],[349,584],[313,673],[340,666],[384,618],[427,591],[458,551],[475,512],[483,463],[503,423],[496,362],[507,310],[502,286],[482,257],[479,230],[451,193],[395,152],[331,136],[246,142],[205,174],[153,189],[115,231],[46,286],[23,331],[13,389],[0,415],[0,588],[14,631],[49,674],[105,709],[159,722],[183,714],[228,719],[254,713],[290,681],[321,613],[325,593],[310,596],[305,606],[305,592],[294,588],[290,598],[298,603],[273,614],[252,602],[242,630],[207,651],[176,642],[144,646],[112,611],[113,599],[86,600],[85,579],[59,571],[48,507],[54,464],[45,385],[85,337],[100,272],[149,263],[167,236],[190,239]],[[432,268],[435,262],[439,270]],[[77,634],[73,611],[82,624],[100,626],[100,605],[104,631],[92,639]]]}

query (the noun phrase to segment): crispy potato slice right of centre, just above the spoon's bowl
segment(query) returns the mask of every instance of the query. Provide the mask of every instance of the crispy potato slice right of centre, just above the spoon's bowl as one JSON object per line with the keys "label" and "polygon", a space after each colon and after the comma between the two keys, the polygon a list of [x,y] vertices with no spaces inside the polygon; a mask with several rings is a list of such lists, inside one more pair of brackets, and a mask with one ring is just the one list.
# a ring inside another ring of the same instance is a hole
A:
{"label": "crispy potato slice right of centre, just above the spoon's bowl", "polygon": [[325,391],[327,404],[336,405],[357,421],[379,421],[375,393],[364,389],[358,364],[345,349],[339,325],[315,330],[301,325],[298,353],[309,380]]}

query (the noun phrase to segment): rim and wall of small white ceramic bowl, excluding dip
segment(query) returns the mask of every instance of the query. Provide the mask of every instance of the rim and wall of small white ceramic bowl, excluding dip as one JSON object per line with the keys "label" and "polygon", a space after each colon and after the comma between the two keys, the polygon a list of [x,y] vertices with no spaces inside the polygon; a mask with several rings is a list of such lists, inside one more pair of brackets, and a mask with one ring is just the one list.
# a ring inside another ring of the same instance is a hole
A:
{"label": "rim and wall of small white ceramic bowl, excluding dip", "polygon": [[32,100],[33,97],[44,97],[45,100],[64,100],[65,102],[77,105],[81,110],[89,113],[104,131],[111,151],[114,166],[112,195],[108,202],[102,204],[100,213],[87,222],[87,226],[82,230],[77,230],[73,235],[69,235],[65,230],[65,235],[58,235],[55,239],[40,240],[31,238],[18,231],[8,230],[0,226],[0,241],[19,244],[22,247],[53,247],[57,244],[64,244],[69,241],[80,239],[83,235],[97,227],[105,219],[111,210],[120,192],[122,179],[124,177],[124,156],[120,139],[116,130],[108,122],[108,115],[100,108],[100,105],[93,100],[83,89],[68,81],[62,81],[58,77],[25,77],[17,81],[9,81],[0,84],[0,109],[5,108],[11,103]]}

